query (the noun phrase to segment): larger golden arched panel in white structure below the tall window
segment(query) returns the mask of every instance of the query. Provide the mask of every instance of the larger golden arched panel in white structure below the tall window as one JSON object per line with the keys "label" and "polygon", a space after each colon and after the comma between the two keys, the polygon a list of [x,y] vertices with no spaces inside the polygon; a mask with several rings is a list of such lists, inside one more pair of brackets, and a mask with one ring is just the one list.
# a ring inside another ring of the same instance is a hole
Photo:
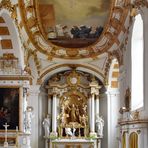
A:
{"label": "larger golden arched panel in white structure below the tall window", "polygon": [[138,148],[138,134],[136,132],[129,136],[129,148]]}

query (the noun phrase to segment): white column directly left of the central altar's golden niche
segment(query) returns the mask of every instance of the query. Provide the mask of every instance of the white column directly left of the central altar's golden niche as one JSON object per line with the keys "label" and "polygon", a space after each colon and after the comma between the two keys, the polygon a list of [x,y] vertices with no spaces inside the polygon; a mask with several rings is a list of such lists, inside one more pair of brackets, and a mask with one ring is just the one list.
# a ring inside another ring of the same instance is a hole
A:
{"label": "white column directly left of the central altar's golden niche", "polygon": [[57,134],[57,94],[53,94],[52,101],[52,133]]}

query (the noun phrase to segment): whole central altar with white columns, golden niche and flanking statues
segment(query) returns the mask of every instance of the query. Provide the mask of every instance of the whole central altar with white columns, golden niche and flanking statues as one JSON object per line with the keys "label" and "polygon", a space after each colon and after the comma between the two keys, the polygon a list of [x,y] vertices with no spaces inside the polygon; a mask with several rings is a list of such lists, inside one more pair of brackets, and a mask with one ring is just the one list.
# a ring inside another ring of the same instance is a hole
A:
{"label": "whole central altar with white columns, golden niche and flanking statues", "polygon": [[48,114],[43,120],[46,148],[101,147],[100,88],[99,80],[76,70],[49,79]]}

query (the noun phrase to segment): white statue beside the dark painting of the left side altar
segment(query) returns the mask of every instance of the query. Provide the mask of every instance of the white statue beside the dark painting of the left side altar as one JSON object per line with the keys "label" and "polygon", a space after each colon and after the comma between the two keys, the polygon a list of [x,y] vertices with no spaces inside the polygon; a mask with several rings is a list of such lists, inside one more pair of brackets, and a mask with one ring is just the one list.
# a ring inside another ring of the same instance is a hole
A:
{"label": "white statue beside the dark painting of the left side altar", "polygon": [[34,117],[32,112],[33,112],[33,107],[28,106],[27,110],[25,111],[26,115],[25,131],[27,134],[31,134],[31,123],[32,123],[32,118]]}

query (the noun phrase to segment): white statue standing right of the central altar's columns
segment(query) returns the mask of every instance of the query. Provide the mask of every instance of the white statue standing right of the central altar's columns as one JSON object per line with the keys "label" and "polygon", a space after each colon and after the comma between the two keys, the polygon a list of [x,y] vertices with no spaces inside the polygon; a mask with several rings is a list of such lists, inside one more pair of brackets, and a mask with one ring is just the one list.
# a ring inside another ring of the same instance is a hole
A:
{"label": "white statue standing right of the central altar's columns", "polygon": [[97,135],[99,137],[103,137],[103,126],[104,126],[104,120],[99,115],[96,115],[96,128],[97,128]]}

